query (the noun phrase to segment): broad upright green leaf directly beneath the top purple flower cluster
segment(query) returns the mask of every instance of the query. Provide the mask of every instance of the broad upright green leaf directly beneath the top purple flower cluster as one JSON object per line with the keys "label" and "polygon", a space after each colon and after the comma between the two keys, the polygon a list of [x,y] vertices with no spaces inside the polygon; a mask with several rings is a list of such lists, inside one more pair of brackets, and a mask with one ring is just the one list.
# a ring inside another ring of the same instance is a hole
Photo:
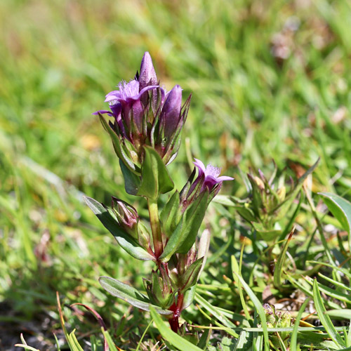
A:
{"label": "broad upright green leaf directly beneath the top purple flower cluster", "polygon": [[144,150],[145,158],[141,168],[141,185],[138,195],[155,200],[159,194],[170,192],[174,184],[157,151],[149,146],[145,146]]}

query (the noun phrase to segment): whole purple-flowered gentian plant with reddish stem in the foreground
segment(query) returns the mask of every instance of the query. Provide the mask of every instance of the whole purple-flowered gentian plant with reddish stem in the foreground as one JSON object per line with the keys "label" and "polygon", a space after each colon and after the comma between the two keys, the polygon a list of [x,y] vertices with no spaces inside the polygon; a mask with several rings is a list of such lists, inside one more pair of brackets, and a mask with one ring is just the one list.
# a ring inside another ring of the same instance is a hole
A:
{"label": "whole purple-flowered gentian plant with reddish stem in the foreground", "polygon": [[[100,284],[142,310],[154,307],[178,331],[180,313],[192,303],[208,252],[209,234],[198,241],[199,227],[223,181],[233,178],[220,176],[220,168],[205,167],[195,159],[183,190],[174,191],[159,211],[159,195],[174,188],[166,166],[178,153],[191,96],[182,105],[180,86],[168,92],[160,86],[149,53],[135,79],[122,81],[118,88],[106,95],[110,110],[94,114],[110,134],[126,192],[147,199],[149,223],[115,197],[112,208],[88,197],[86,202],[127,253],[138,260],[153,260],[155,269],[144,279],[147,295],[110,277],[100,277]],[[109,123],[104,114],[112,117]]]}

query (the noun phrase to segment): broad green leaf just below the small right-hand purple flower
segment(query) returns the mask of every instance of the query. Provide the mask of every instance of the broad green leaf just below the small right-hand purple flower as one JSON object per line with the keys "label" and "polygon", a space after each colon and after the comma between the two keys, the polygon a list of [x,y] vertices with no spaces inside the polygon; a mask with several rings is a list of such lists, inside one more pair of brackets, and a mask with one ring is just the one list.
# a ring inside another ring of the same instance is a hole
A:
{"label": "broad green leaf just below the small right-hand purple flower", "polygon": [[207,208],[208,191],[203,192],[185,211],[176,230],[171,234],[159,257],[167,262],[173,253],[187,253],[197,238],[197,232]]}

